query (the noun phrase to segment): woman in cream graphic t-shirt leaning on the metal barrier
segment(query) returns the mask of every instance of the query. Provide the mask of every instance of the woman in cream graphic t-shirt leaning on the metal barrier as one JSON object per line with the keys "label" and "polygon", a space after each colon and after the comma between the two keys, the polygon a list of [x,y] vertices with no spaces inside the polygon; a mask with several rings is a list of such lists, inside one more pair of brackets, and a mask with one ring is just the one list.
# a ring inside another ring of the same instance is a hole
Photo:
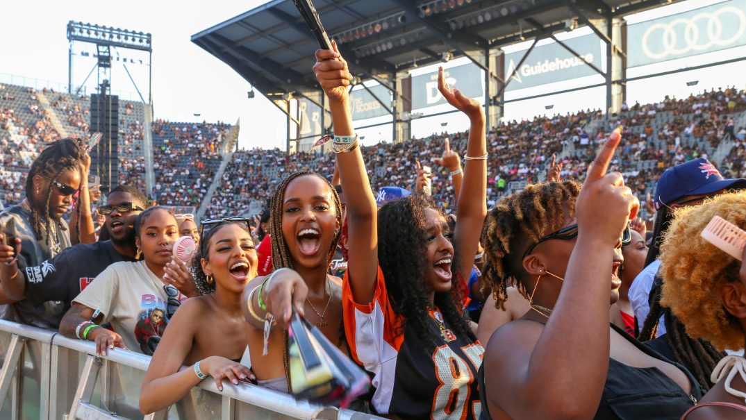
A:
{"label": "woman in cream graphic t-shirt leaning on the metal barrier", "polygon": [[[178,237],[176,219],[165,207],[140,213],[135,222],[139,261],[114,263],[101,272],[72,301],[60,333],[95,341],[96,354],[106,354],[115,346],[152,354],[170,317],[186,299],[162,280]],[[107,322],[113,330],[98,325]]]}

